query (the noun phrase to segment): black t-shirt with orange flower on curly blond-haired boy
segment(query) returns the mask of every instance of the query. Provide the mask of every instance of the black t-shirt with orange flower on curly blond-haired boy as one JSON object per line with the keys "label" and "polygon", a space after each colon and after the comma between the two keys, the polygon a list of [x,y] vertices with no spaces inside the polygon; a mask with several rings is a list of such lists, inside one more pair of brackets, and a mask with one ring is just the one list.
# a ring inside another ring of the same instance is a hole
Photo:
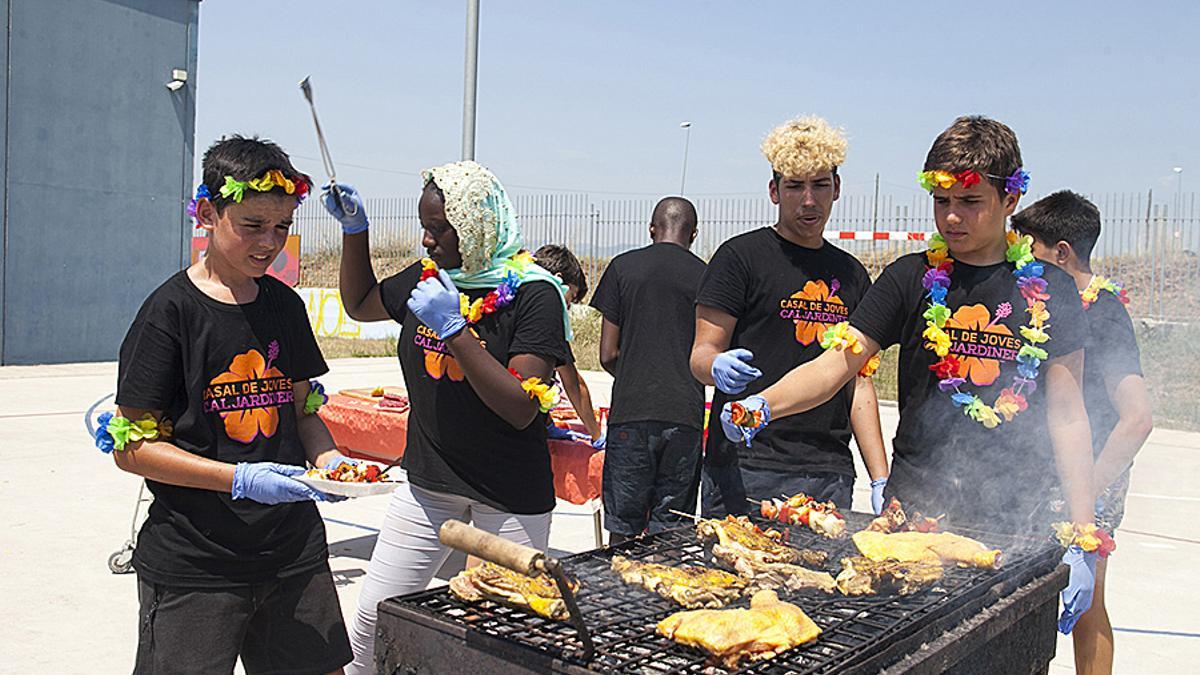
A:
{"label": "black t-shirt with orange flower on curly blond-haired boy", "polygon": [[[784,239],[773,227],[734,237],[721,244],[708,263],[696,297],[697,305],[716,307],[738,319],[730,348],[754,352],[762,377],[740,394],[716,390],[713,411],[726,401],[757,394],[793,368],[824,351],[826,328],[850,318],[871,279],[853,256],[822,243],[805,249]],[[709,418],[704,461],[727,466],[734,461],[788,473],[854,474],[850,455],[850,408],[854,383],[829,401],[800,414],[773,420],[754,437],[750,448],[732,443],[719,416]]]}

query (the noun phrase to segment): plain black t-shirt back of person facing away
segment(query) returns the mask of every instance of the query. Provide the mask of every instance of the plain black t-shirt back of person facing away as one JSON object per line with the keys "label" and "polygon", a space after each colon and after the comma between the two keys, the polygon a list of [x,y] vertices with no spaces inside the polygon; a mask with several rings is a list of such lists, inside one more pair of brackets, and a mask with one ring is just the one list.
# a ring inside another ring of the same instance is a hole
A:
{"label": "plain black t-shirt back of person facing away", "polygon": [[650,244],[612,259],[592,306],[620,328],[610,424],[704,425],[704,386],[688,365],[704,262],[677,244]]}

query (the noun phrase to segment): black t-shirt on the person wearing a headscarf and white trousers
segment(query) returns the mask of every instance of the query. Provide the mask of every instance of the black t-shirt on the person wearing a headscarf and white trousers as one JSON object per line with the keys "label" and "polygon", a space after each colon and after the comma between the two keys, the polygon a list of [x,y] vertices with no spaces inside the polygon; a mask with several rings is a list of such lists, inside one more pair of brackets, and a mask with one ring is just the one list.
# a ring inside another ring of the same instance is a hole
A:
{"label": "black t-shirt on the person wearing a headscarf and white trousers", "polygon": [[[420,276],[421,265],[414,263],[379,286],[384,307],[402,324],[396,351],[412,402],[401,465],[408,479],[508,513],[553,509],[546,416],[516,430],[480,400],[445,344],[408,311]],[[474,300],[490,291],[463,293]],[[473,328],[505,368],[516,354],[545,357],[554,368],[566,363],[563,301],[545,281],[522,283],[509,306],[485,315]]]}

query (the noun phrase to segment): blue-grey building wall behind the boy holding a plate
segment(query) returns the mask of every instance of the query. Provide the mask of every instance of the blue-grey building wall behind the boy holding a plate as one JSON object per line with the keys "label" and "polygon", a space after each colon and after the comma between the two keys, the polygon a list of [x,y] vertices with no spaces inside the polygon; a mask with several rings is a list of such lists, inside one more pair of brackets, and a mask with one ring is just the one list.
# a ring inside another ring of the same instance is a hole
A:
{"label": "blue-grey building wall behind the boy holding a plate", "polygon": [[114,359],[186,264],[198,2],[0,0],[4,364]]}

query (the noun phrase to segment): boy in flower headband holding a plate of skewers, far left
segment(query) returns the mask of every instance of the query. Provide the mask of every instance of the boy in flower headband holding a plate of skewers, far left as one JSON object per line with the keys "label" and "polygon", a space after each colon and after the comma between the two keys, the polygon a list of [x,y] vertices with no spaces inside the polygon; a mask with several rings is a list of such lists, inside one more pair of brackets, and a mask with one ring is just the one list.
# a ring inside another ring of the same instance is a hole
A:
{"label": "boy in flower headband holding a plate of skewers, far left", "polygon": [[134,671],[341,671],[325,496],[293,478],[341,458],[313,414],[326,368],[304,301],[266,276],[310,180],[240,136],[203,171],[190,213],[208,252],[142,305],[96,435],[155,496],[133,554]]}

